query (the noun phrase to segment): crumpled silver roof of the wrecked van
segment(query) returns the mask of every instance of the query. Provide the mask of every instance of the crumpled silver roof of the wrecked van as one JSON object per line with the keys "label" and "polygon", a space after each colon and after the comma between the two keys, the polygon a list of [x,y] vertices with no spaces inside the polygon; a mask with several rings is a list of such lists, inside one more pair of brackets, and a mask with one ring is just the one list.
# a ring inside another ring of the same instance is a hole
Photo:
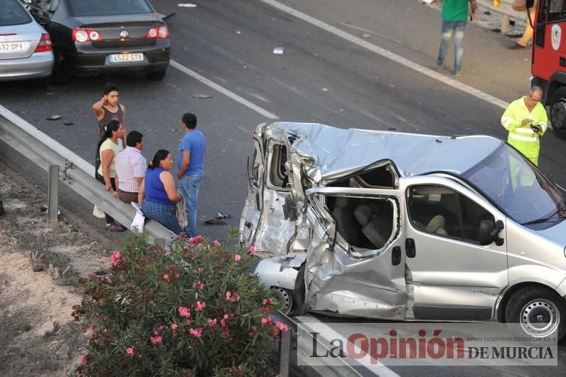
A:
{"label": "crumpled silver roof of the wrecked van", "polygon": [[264,126],[263,132],[286,142],[289,152],[313,159],[322,179],[342,176],[380,160],[393,161],[400,176],[429,171],[461,174],[503,143],[484,135],[447,137],[298,122],[260,124],[258,132]]}

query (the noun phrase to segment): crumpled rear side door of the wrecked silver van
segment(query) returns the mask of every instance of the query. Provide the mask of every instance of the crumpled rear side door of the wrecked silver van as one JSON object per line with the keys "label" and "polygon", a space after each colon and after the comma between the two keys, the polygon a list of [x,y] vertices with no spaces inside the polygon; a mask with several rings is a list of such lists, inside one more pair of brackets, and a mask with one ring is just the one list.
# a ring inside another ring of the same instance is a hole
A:
{"label": "crumpled rear side door of the wrecked silver van", "polygon": [[405,318],[400,196],[395,189],[306,191],[313,239],[306,256],[306,307],[382,319]]}

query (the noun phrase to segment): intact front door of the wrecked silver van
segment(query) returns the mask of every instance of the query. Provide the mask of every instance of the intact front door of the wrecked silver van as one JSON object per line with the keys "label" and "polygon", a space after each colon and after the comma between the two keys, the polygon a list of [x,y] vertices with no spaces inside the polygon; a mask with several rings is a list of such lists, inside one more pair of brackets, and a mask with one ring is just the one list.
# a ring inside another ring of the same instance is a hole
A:
{"label": "intact front door of the wrecked silver van", "polygon": [[501,245],[480,245],[481,221],[505,216],[452,179],[402,179],[407,213],[407,316],[486,320],[508,285],[505,230]]}

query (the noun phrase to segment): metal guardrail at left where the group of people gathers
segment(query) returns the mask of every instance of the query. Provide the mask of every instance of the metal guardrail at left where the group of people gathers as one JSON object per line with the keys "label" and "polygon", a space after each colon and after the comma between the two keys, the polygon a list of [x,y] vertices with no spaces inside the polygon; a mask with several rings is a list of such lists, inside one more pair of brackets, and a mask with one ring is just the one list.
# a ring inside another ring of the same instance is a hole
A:
{"label": "metal guardrail at left where the group of people gathers", "polygon": [[[135,210],[114,198],[95,179],[95,167],[62,144],[48,137],[6,107],[0,105],[0,139],[37,164],[49,171],[50,165],[59,166],[59,180],[102,211],[109,213],[119,223],[129,226]],[[149,241],[164,240],[169,245],[176,237],[170,230],[156,221],[146,219],[144,230]]]}

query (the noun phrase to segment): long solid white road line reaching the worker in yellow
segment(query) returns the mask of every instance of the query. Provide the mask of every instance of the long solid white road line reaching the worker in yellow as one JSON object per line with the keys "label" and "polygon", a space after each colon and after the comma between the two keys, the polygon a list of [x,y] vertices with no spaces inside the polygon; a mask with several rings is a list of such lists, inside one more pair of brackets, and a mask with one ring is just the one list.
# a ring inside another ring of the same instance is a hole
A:
{"label": "long solid white road line reaching the worker in yellow", "polygon": [[437,73],[437,71],[435,70],[426,68],[424,67],[424,65],[420,65],[419,63],[415,63],[412,60],[403,58],[402,56],[397,55],[396,53],[392,53],[391,51],[388,51],[385,48],[381,48],[377,45],[374,45],[373,43],[364,41],[362,38],[358,38],[356,36],[351,35],[350,33],[346,33],[346,31],[342,31],[339,28],[329,25],[328,23],[320,21],[314,17],[311,17],[308,14],[304,14],[301,11],[297,11],[291,8],[290,6],[281,4],[279,3],[279,1],[275,1],[275,0],[260,0],[260,1],[262,1],[262,3],[268,4],[270,6],[273,6],[274,8],[279,9],[280,11],[295,16],[301,19],[302,21],[305,21],[306,23],[310,23],[311,25],[314,25],[317,28],[321,28],[324,31],[328,31],[329,33],[332,33],[335,36],[346,39],[346,41],[354,43],[362,48],[365,48],[366,50],[381,55],[383,56],[383,58],[388,58],[390,60],[393,60],[395,63],[399,63],[400,65],[404,65],[407,68],[416,70],[418,73],[422,73],[423,75],[426,75],[429,78],[438,80],[446,85],[454,87],[457,90],[461,90],[462,92],[466,92],[469,95],[473,95],[474,97],[477,97],[480,100],[484,100],[488,103],[491,103],[491,105],[501,107],[502,109],[506,109],[509,105],[508,102],[500,100],[499,98],[494,97],[493,95],[489,95],[488,93],[482,92],[481,90],[478,90],[475,87],[471,87],[469,85],[460,83],[459,81],[454,80],[453,78],[449,78],[447,76],[441,75],[440,73]]}

